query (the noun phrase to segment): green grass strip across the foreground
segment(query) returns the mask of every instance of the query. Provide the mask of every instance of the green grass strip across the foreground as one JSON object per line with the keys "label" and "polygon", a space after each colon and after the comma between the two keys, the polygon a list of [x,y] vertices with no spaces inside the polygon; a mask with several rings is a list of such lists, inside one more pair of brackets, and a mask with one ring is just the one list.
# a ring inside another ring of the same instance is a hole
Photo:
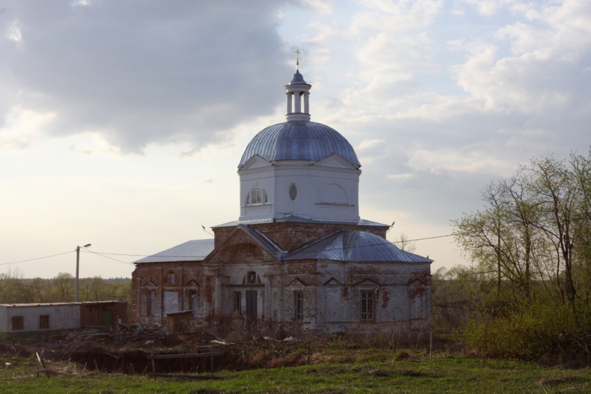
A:
{"label": "green grass strip across the foreground", "polygon": [[[5,363],[10,366],[5,367]],[[105,374],[49,361],[48,379],[32,358],[1,360],[1,393],[591,393],[591,370],[521,361],[366,351],[309,366],[221,371],[223,380],[174,381]]]}

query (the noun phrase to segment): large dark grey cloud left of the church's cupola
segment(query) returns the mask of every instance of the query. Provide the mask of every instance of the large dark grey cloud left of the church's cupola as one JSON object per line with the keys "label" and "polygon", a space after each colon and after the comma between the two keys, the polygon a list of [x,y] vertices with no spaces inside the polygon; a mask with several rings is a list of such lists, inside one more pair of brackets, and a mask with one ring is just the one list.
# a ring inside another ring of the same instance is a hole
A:
{"label": "large dark grey cloud left of the church's cupola", "polygon": [[4,126],[19,106],[54,113],[42,128],[52,136],[99,133],[131,152],[200,147],[270,113],[291,72],[275,26],[282,2],[9,4],[0,18],[0,73],[13,81],[0,92]]}

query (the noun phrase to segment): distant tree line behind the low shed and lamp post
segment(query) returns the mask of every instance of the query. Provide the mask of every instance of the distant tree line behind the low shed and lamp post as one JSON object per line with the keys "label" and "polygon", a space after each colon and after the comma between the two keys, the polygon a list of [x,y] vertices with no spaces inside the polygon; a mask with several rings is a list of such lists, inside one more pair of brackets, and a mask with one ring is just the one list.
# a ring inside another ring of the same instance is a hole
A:
{"label": "distant tree line behind the low shed and lamp post", "polygon": [[[79,279],[78,299],[108,301],[117,299],[131,302],[131,279]],[[37,304],[74,302],[76,279],[72,274],[60,272],[51,279],[26,279],[18,270],[0,274],[0,304]]]}

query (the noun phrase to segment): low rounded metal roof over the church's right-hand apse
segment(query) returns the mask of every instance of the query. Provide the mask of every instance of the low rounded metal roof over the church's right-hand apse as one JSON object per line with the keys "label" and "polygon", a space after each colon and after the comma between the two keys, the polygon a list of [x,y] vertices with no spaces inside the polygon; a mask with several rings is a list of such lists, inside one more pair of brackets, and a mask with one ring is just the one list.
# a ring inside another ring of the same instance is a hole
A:
{"label": "low rounded metal roof over the church's right-hand apse", "polygon": [[366,231],[337,231],[283,258],[289,260],[390,261],[432,263],[429,258],[405,252]]}

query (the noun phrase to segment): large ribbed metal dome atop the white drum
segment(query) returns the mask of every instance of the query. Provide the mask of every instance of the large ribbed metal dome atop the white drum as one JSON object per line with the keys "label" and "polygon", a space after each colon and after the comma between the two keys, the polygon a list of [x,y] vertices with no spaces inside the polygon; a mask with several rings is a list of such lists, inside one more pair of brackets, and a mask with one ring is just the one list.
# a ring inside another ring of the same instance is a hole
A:
{"label": "large ribbed metal dome atop the white drum", "polygon": [[268,126],[254,136],[238,168],[254,155],[268,161],[320,161],[331,154],[338,154],[352,165],[361,167],[355,150],[338,131],[321,123],[291,120]]}

